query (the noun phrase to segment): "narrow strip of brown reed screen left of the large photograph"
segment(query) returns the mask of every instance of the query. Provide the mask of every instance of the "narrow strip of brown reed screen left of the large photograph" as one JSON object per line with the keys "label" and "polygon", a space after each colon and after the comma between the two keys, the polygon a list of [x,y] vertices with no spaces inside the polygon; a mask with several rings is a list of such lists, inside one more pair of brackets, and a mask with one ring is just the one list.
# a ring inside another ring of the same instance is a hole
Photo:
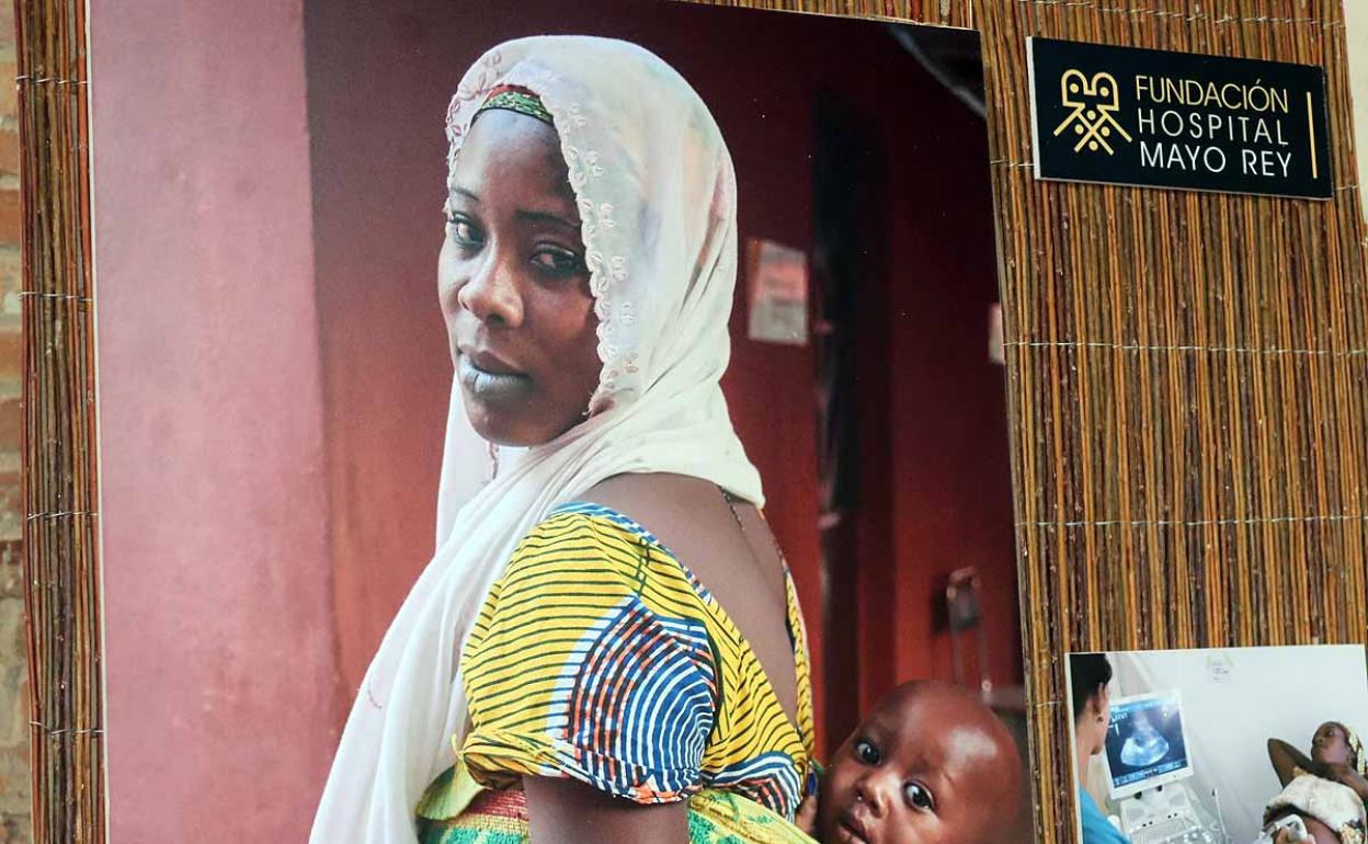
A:
{"label": "narrow strip of brown reed screen left of the large photograph", "polygon": [[15,3],[34,841],[104,841],[85,4]]}

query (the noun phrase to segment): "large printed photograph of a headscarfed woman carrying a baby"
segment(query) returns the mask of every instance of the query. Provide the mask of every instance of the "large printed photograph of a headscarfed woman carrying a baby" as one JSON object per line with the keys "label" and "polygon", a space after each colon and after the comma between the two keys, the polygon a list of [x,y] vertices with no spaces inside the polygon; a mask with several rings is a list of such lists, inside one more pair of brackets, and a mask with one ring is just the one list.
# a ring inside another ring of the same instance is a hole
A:
{"label": "large printed photograph of a headscarfed woman carrying a baby", "polygon": [[176,14],[92,18],[112,841],[1031,840],[974,33]]}

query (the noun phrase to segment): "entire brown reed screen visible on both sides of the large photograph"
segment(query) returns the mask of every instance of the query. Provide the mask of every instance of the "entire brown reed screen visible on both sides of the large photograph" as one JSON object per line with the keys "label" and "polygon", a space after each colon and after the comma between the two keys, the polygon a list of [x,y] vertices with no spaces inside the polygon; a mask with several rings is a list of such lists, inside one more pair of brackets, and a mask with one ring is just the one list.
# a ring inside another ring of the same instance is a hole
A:
{"label": "entire brown reed screen visible on both sides of the large photograph", "polygon": [[[726,4],[982,34],[1036,825],[1071,841],[1064,652],[1368,639],[1365,231],[1339,3]],[[85,12],[16,12],[34,840],[85,844],[105,839]],[[1335,200],[1037,182],[1033,34],[1324,66]]]}

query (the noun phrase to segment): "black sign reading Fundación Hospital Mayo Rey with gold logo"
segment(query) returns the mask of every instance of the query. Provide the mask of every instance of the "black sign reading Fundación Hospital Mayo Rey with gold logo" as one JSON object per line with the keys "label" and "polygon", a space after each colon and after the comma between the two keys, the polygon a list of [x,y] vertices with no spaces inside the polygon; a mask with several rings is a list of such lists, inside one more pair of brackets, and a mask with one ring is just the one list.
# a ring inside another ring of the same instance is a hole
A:
{"label": "black sign reading Fundaci\u00f3n Hospital Mayo Rey with gold logo", "polygon": [[1326,71],[1030,38],[1036,175],[1328,200]]}

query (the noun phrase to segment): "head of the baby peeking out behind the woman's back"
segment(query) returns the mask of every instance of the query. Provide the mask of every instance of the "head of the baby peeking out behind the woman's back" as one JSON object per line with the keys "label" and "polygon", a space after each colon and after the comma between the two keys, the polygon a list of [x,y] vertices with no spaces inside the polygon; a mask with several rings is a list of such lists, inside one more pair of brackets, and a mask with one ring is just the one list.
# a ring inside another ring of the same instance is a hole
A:
{"label": "head of the baby peeking out behind the woman's back", "polygon": [[822,777],[825,844],[977,844],[1012,822],[1021,761],[973,694],[906,683],[880,700]]}

